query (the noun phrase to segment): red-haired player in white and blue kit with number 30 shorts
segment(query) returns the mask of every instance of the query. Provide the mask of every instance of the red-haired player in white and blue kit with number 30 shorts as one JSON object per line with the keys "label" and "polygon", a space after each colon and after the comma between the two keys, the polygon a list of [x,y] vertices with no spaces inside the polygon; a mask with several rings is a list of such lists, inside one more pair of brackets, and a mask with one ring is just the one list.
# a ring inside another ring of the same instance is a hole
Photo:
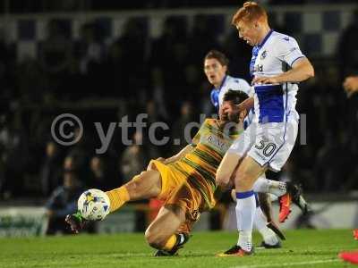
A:
{"label": "red-haired player in white and blue kit with number 30 shorts", "polygon": [[223,109],[234,114],[254,105],[255,118],[227,151],[217,170],[217,183],[226,188],[234,174],[236,219],[242,220],[237,222],[237,245],[226,255],[242,256],[252,253],[252,185],[268,168],[278,172],[286,163],[298,130],[297,83],[312,77],[314,71],[294,38],[269,28],[267,13],[260,5],[246,2],[234,14],[232,23],[239,37],[254,46],[250,64],[254,96],[242,105]]}

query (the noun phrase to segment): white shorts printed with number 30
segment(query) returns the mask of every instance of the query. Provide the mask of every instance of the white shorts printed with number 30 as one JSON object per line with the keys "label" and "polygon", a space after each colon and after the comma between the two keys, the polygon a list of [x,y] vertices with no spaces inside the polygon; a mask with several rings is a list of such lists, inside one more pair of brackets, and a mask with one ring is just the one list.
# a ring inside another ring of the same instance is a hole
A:
{"label": "white shorts printed with number 30", "polygon": [[250,155],[261,166],[279,172],[294,148],[298,132],[298,115],[291,113],[286,122],[252,122],[227,152]]}

